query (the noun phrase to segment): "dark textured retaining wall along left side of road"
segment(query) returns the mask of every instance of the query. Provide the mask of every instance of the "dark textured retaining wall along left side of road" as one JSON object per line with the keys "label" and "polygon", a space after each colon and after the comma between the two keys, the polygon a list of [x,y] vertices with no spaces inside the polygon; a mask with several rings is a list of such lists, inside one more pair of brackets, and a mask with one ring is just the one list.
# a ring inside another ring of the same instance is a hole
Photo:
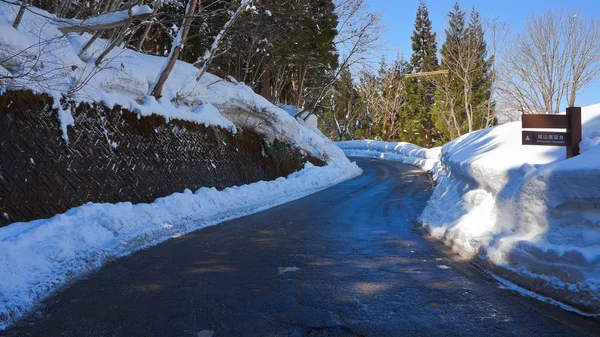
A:
{"label": "dark textured retaining wall along left side of road", "polygon": [[28,91],[0,96],[0,226],[48,218],[87,202],[149,203],[186,188],[223,189],[285,177],[320,159],[244,128],[115,106],[80,104],[62,137],[53,99]]}

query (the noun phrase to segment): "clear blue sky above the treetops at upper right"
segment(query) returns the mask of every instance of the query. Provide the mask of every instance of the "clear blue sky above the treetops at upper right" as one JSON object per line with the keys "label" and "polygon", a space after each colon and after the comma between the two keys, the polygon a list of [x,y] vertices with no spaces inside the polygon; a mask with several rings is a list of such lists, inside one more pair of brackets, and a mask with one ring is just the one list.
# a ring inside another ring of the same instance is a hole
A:
{"label": "clear blue sky above the treetops at upper right", "polygon": [[[386,46],[385,54],[388,60],[394,59],[398,52],[406,58],[410,57],[410,36],[412,34],[415,14],[419,0],[368,0],[373,11],[383,14],[387,28],[382,38]],[[441,44],[446,27],[446,14],[454,5],[455,0],[426,0],[433,29]],[[516,30],[521,30],[527,17],[541,13],[547,8],[576,9],[585,15],[593,15],[600,19],[600,0],[460,0],[465,10],[475,6],[484,17],[499,17],[510,22]],[[600,103],[600,81],[589,86],[580,93],[577,105],[586,106]]]}

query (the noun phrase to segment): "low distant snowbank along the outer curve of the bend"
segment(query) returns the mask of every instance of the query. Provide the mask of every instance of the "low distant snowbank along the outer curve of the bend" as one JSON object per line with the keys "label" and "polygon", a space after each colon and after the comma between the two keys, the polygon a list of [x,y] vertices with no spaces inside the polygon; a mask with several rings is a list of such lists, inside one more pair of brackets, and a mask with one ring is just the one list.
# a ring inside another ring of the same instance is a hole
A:
{"label": "low distant snowbank along the outer curve of the bend", "polygon": [[437,180],[443,174],[440,157],[441,148],[426,149],[410,143],[381,142],[376,140],[352,140],[337,142],[349,157],[380,158],[398,161],[430,171]]}

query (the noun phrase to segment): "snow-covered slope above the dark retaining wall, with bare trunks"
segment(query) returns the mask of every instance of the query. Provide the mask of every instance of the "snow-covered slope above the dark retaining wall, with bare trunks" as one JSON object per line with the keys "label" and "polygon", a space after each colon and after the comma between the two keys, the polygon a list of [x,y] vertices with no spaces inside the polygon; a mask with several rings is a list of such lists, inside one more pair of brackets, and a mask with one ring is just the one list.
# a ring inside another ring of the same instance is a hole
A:
{"label": "snow-covered slope above the dark retaining wall, with bare trunks", "polygon": [[[200,70],[178,61],[165,83],[163,97],[157,101],[147,97],[147,93],[165,64],[164,57],[117,47],[100,67],[95,67],[94,62],[108,42],[96,40],[80,58],[78,55],[91,35],[64,35],[59,31],[67,21],[69,25],[85,25],[87,21],[64,20],[29,7],[15,30],[12,23],[18,10],[16,5],[0,2],[0,73],[18,76],[0,86],[47,93],[56,102],[67,97],[78,103],[102,102],[109,108],[120,105],[142,116],[155,114],[167,120],[214,125],[232,132],[252,128],[268,139],[288,142],[328,163],[349,163],[342,151],[319,132],[299,123],[242,83],[211,74],[196,81]],[[136,8],[138,14],[148,11],[146,6]],[[112,13],[101,19],[118,21],[122,15],[123,12]],[[61,128],[67,139],[64,131],[73,123],[71,111],[58,103],[55,108],[60,111]]]}

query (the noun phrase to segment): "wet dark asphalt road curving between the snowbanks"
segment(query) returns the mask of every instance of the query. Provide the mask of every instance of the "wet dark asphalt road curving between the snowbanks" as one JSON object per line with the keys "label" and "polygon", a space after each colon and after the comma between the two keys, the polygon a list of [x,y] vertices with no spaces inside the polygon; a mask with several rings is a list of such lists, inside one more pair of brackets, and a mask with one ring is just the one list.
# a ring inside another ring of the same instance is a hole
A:
{"label": "wet dark asphalt road curving between the snowbanks", "polygon": [[500,289],[415,229],[425,173],[357,161],[354,180],[108,264],[4,334],[600,334],[598,321]]}

